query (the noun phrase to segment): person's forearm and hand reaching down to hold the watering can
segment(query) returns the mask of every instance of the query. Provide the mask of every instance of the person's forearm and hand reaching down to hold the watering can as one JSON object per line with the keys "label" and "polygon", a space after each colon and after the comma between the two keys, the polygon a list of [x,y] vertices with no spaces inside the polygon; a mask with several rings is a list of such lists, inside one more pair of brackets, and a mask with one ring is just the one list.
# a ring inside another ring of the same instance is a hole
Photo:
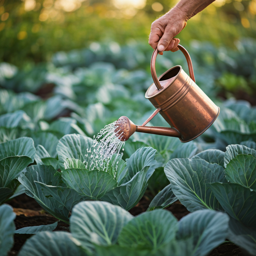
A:
{"label": "person's forearm and hand reaching down to hold the watering can", "polygon": [[214,0],[180,0],[172,9],[151,25],[148,43],[159,51],[178,50],[179,39],[173,38],[186,25],[186,21]]}

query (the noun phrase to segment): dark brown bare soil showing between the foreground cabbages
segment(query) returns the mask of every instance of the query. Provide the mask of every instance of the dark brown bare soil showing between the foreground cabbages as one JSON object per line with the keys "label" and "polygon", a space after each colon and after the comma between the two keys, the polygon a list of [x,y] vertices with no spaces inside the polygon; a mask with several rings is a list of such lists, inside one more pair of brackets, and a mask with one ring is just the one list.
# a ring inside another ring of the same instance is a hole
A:
{"label": "dark brown bare soil showing between the foreground cabbages", "polygon": [[[22,228],[25,226],[38,226],[51,224],[57,219],[45,212],[43,208],[31,197],[26,194],[21,194],[16,196],[7,202],[9,205],[13,207],[13,211],[16,213],[16,218],[14,220],[16,229]],[[129,210],[132,215],[138,215],[144,211],[146,211],[148,205],[150,203],[150,199],[145,195],[141,198],[138,204]],[[189,211],[179,202],[176,201],[172,203],[167,210],[171,211],[172,214],[180,219],[183,216],[187,215]],[[54,231],[69,231],[69,225],[58,221],[56,229]],[[24,244],[26,239],[28,239],[30,235],[28,234],[14,234],[14,245],[8,253],[8,256],[17,255],[21,246]],[[233,243],[226,243],[215,248],[209,256],[248,256],[241,249],[234,245]]]}

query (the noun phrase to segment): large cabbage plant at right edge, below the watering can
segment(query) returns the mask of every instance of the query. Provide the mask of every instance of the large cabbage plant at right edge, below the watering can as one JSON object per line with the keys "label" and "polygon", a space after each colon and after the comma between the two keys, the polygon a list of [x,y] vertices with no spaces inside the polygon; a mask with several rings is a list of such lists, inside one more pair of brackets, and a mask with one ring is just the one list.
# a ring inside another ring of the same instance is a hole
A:
{"label": "large cabbage plant at right edge, below the watering can", "polygon": [[[243,143],[256,149],[255,142]],[[255,149],[228,145],[225,152],[209,149],[191,159],[171,159],[164,168],[172,193],[189,211],[225,211],[230,217],[228,239],[252,255],[256,254]],[[173,197],[170,189],[161,193]],[[155,199],[151,207],[157,206],[161,204]]]}

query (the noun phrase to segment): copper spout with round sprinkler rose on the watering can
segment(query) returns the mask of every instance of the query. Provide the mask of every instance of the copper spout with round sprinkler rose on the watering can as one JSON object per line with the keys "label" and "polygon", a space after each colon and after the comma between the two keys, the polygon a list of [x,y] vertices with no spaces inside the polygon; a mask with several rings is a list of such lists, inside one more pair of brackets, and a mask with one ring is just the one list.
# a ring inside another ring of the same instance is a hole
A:
{"label": "copper spout with round sprinkler rose on the watering can", "polygon": [[143,133],[151,133],[157,135],[181,137],[175,128],[157,127],[157,126],[139,126],[135,125],[128,117],[121,116],[116,121],[115,135],[121,140],[126,141],[135,131]]}

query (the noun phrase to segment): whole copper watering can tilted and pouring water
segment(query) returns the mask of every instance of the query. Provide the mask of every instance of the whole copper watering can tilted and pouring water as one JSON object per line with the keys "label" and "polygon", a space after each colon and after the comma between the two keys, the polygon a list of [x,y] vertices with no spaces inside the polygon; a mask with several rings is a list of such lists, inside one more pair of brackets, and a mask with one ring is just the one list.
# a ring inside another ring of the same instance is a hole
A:
{"label": "whole copper watering can tilted and pouring water", "polygon": [[[126,116],[121,116],[117,122],[116,136],[122,141],[127,140],[135,131],[178,137],[181,142],[188,142],[202,134],[217,118],[219,107],[196,85],[191,58],[186,49],[178,45],[185,55],[189,75],[180,65],[176,65],[157,78],[155,60],[157,48],[151,57],[151,74],[153,83],[145,93],[156,110],[141,125],[135,125]],[[145,126],[157,113],[171,127]]]}

